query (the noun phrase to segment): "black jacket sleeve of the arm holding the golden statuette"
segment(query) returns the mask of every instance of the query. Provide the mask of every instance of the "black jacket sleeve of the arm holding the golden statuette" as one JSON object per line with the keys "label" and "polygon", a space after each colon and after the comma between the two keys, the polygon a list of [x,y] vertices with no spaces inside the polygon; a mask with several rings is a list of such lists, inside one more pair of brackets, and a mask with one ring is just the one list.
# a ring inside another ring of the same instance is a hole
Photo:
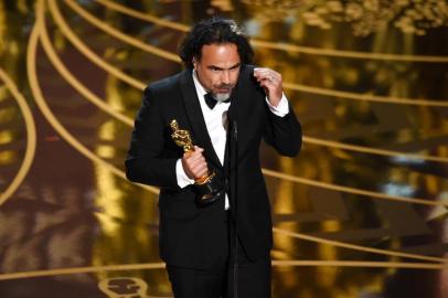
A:
{"label": "black jacket sleeve of the arm holding the golden statuette", "polygon": [[156,98],[151,87],[147,87],[136,116],[125,162],[126,177],[130,181],[161,188],[179,188],[175,177],[178,158],[163,155],[166,138],[160,98]]}

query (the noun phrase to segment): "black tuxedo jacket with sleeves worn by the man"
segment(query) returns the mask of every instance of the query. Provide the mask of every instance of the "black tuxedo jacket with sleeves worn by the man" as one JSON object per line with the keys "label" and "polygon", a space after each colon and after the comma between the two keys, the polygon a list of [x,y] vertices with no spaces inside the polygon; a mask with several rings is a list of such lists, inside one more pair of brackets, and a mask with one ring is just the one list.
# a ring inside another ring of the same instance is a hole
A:
{"label": "black tuxedo jacket with sleeves worn by the man", "polygon": [[160,187],[160,255],[170,265],[211,266],[216,245],[223,245],[225,236],[222,228],[216,228],[222,224],[224,198],[198,206],[193,185],[178,187],[175,162],[183,150],[171,139],[172,119],[191,132],[194,145],[204,148],[209,169],[228,181],[231,211],[247,256],[257,259],[271,248],[270,206],[259,164],[259,146],[264,139],[280,155],[296,156],[301,147],[301,128],[291,108],[285,117],[269,110],[253,71],[253,66],[242,65],[232,94],[224,164],[207,134],[191,70],[145,89],[126,170],[131,181]]}

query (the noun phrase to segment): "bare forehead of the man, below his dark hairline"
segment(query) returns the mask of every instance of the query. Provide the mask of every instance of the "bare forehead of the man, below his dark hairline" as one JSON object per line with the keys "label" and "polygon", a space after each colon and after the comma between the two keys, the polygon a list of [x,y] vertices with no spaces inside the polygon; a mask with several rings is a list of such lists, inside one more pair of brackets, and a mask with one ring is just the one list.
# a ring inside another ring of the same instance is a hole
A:
{"label": "bare forehead of the man, below his dark hairline", "polygon": [[205,44],[201,49],[201,63],[214,66],[234,66],[241,62],[234,43]]}

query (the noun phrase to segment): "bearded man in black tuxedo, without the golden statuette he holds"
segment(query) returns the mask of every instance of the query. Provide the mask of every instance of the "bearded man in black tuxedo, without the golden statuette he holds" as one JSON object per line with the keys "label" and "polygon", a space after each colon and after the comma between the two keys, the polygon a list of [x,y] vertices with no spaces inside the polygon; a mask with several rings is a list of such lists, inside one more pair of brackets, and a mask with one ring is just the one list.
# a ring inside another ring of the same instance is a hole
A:
{"label": "bearded man in black tuxedo, without the golden statuette he holds", "polygon": [[[186,70],[145,89],[127,177],[160,187],[160,255],[177,298],[270,297],[270,206],[259,166],[262,139],[296,156],[301,129],[280,74],[249,64],[236,23],[198,23],[180,49]],[[210,106],[209,106],[210,105]],[[191,134],[184,153],[170,123]],[[196,203],[194,180],[214,171],[226,190]]]}

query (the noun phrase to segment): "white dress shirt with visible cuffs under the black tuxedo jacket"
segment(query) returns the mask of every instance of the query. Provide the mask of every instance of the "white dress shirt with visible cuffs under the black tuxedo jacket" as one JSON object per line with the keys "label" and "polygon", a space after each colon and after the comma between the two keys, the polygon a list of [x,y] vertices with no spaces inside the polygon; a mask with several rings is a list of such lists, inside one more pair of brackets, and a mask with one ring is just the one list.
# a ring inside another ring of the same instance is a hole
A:
{"label": "white dress shirt with visible cuffs under the black tuxedo jacket", "polygon": [[[193,82],[196,89],[199,103],[201,105],[202,115],[204,116],[205,126],[209,131],[210,139],[212,140],[213,149],[220,158],[221,164],[224,164],[225,143],[227,139],[227,132],[225,130],[226,117],[224,116],[231,106],[231,103],[217,102],[215,107],[211,109],[206,103],[204,95],[207,93],[198,79],[196,72],[193,70]],[[268,98],[266,102],[271,113],[279,117],[284,117],[289,113],[288,99],[285,94],[282,95],[278,106],[273,106]],[[178,179],[178,185],[182,189],[194,183],[193,179],[190,179],[182,167],[182,159],[178,159],[175,163],[175,175]],[[225,195],[225,209],[228,209],[228,196]]]}

